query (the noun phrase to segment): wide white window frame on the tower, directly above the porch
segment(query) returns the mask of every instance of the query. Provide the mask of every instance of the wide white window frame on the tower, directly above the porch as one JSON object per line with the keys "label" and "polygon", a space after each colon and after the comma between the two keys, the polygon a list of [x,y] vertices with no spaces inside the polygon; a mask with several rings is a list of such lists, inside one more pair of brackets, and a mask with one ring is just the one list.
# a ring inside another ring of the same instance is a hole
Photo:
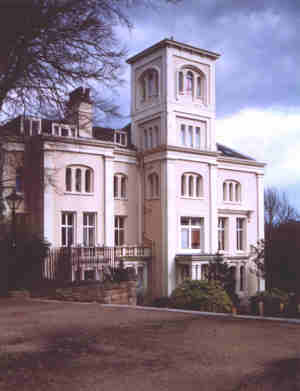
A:
{"label": "wide white window frame on the tower, directly above the porch", "polygon": [[[182,224],[182,219],[189,219],[189,223],[187,225]],[[193,219],[200,219],[200,225],[194,225]],[[180,251],[186,252],[186,253],[203,253],[205,249],[205,218],[202,216],[181,216],[179,220],[179,243],[180,243]],[[187,247],[183,247],[183,240],[182,240],[182,232],[183,231],[188,232],[188,243]],[[195,230],[199,230],[199,237],[200,237],[200,248],[192,248],[192,232]]]}

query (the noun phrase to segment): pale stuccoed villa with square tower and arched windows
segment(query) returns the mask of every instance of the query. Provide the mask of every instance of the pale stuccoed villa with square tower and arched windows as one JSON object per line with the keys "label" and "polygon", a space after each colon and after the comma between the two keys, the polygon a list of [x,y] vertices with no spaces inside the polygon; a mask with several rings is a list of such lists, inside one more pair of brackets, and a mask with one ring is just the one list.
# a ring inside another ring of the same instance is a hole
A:
{"label": "pale stuccoed villa with square tower and arched windows", "polygon": [[[53,247],[117,248],[153,297],[205,278],[216,253],[234,267],[238,295],[262,289],[250,250],[264,236],[264,163],[216,142],[218,57],[169,39],[131,57],[123,129],[93,126],[81,87],[63,122],[7,123],[2,152],[15,164],[3,175],[14,171],[23,195],[19,219]],[[70,278],[100,274],[86,263]]]}

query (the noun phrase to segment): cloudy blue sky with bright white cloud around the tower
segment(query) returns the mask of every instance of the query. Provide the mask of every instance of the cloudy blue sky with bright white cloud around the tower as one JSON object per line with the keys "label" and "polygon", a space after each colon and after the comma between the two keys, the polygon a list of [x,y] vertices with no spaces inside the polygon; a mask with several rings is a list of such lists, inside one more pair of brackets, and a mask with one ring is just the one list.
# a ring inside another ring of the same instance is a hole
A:
{"label": "cloudy blue sky with bright white cloud around the tower", "polygon": [[[133,30],[119,31],[128,57],[171,36],[221,54],[217,140],[265,161],[266,185],[300,210],[300,1],[182,0],[130,16]],[[118,92],[126,116],[129,84]]]}

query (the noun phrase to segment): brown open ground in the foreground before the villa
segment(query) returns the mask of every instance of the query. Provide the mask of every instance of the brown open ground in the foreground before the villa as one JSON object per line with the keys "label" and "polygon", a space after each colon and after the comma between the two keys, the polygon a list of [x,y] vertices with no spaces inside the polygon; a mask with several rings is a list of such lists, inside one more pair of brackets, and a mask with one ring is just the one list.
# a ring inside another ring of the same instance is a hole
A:
{"label": "brown open ground in the foreground before the villa", "polygon": [[0,390],[299,390],[300,326],[0,300]]}

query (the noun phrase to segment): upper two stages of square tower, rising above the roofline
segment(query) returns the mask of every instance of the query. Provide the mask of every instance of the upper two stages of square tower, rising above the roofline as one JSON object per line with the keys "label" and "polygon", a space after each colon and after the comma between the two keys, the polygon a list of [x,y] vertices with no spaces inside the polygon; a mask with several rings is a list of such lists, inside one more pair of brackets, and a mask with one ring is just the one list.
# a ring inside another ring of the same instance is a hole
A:
{"label": "upper two stages of square tower, rising above the roofline", "polygon": [[164,39],[131,57],[131,117],[138,150],[216,151],[215,60],[219,54]]}

